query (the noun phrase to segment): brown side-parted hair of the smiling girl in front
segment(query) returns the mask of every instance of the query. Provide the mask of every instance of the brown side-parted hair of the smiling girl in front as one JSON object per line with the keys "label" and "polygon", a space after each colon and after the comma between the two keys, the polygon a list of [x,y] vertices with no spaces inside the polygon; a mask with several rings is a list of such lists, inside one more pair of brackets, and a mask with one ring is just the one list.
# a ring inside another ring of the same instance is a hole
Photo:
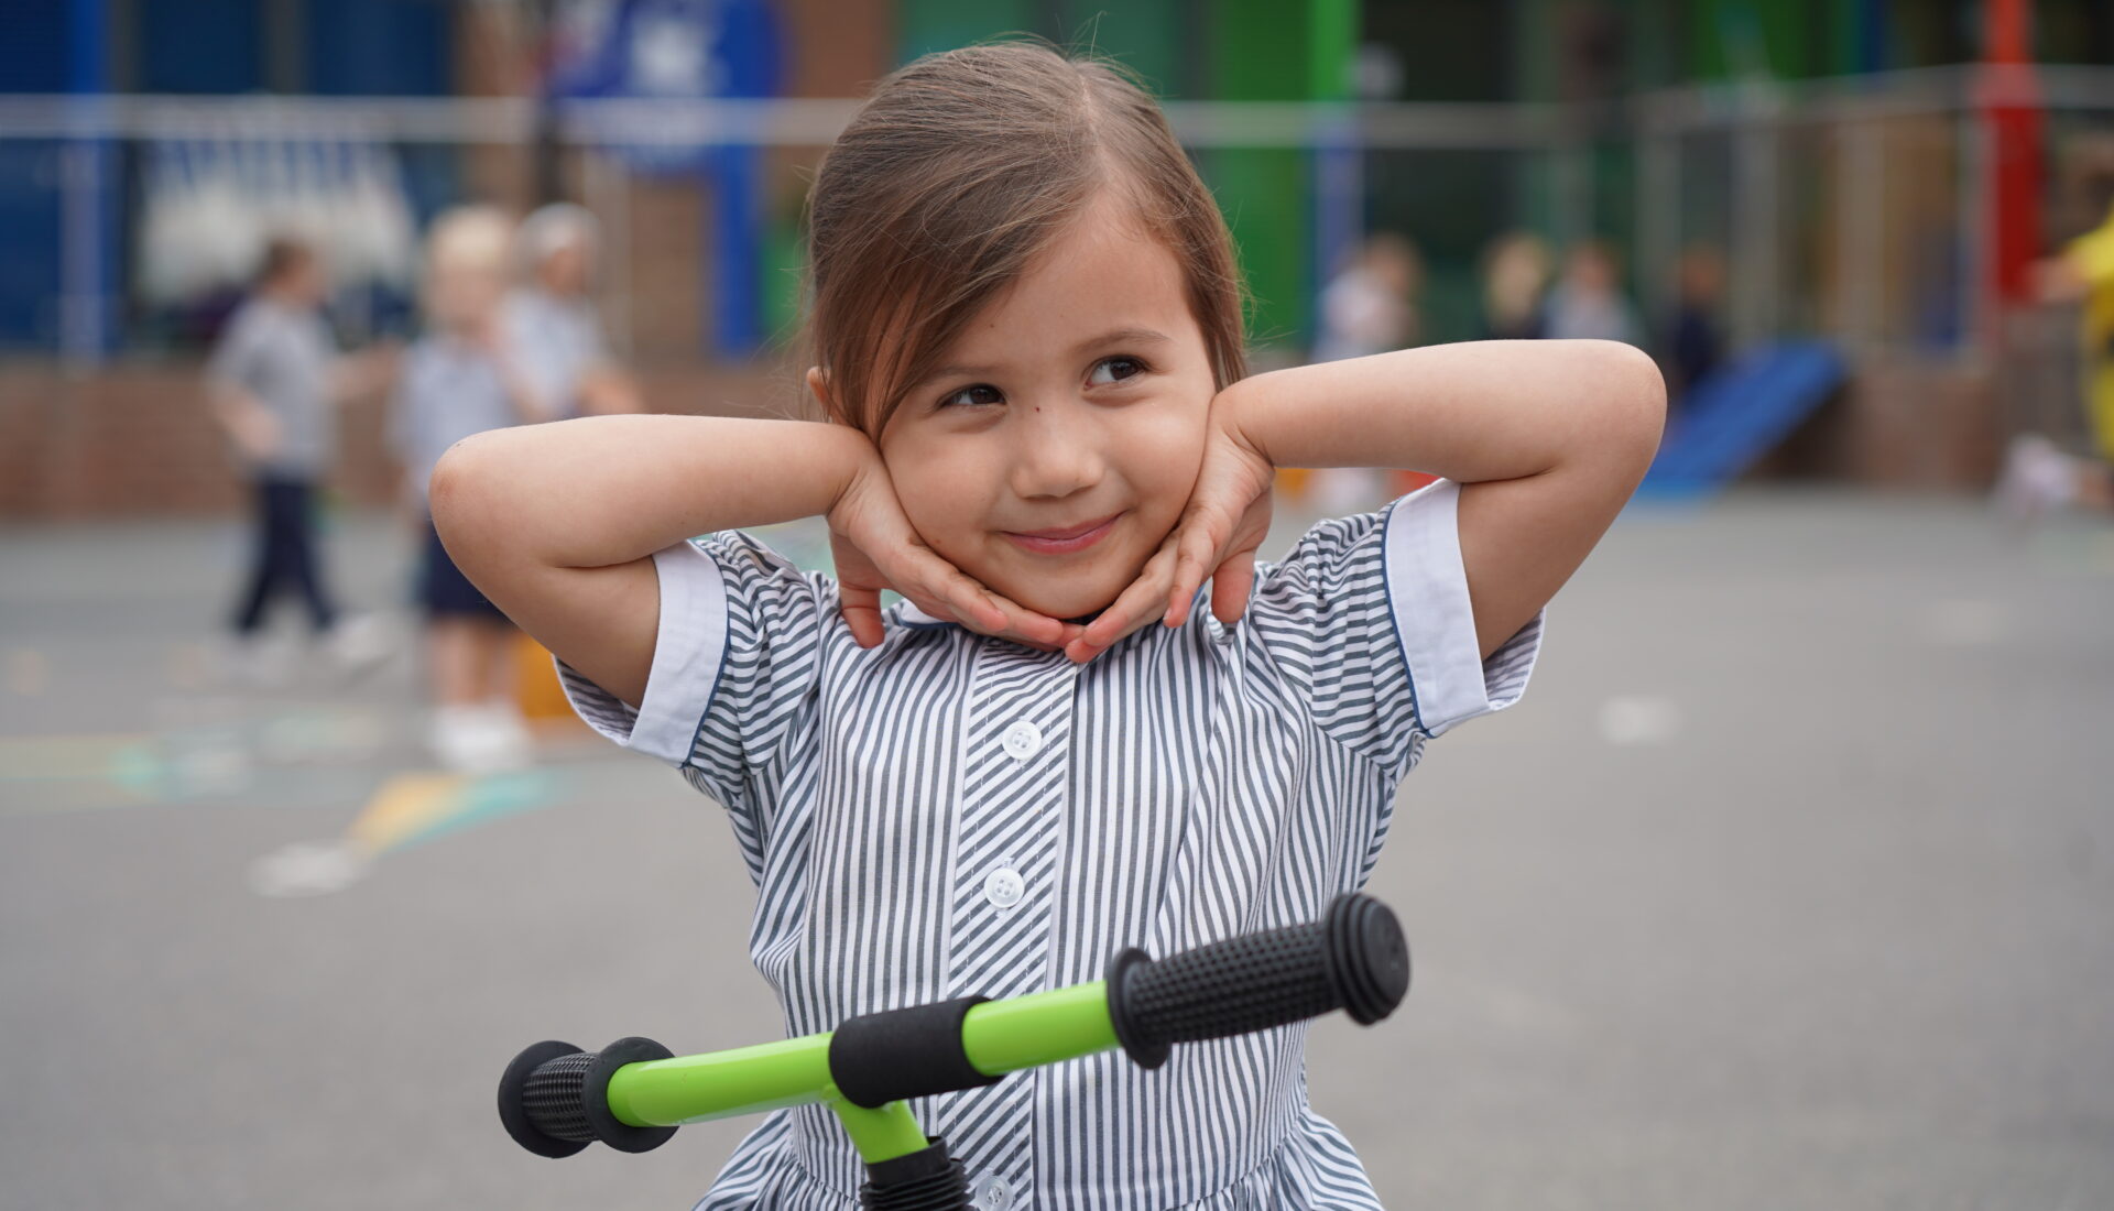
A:
{"label": "brown side-parted hair of the smiling girl in front", "polygon": [[1226,220],[1152,97],[1040,42],[879,82],[808,199],[810,340],[833,421],[879,435],[911,383],[1101,188],[1182,262],[1220,387],[1247,372]]}

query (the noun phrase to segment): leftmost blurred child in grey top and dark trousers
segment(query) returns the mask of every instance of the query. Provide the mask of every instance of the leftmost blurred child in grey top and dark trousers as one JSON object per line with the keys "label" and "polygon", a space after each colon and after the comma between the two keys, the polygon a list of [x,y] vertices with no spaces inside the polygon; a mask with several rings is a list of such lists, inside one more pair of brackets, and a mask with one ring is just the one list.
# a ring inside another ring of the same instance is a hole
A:
{"label": "leftmost blurred child in grey top and dark trousers", "polygon": [[315,484],[336,454],[336,406],[378,391],[389,351],[340,357],[323,323],[326,277],[317,251],[290,237],[264,247],[249,298],[228,319],[207,366],[207,399],[254,490],[256,558],[235,609],[237,674],[275,681],[260,647],[264,609],[300,594],[309,626],[332,659],[357,670],[389,651],[376,619],[338,617],[315,556]]}

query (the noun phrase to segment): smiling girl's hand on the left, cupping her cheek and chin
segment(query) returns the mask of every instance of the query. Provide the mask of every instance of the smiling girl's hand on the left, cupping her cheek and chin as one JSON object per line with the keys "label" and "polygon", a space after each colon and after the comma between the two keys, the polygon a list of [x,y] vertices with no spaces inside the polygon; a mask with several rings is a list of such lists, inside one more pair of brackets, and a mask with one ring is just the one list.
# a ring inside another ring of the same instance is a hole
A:
{"label": "smiling girl's hand on the left, cupping her cheek and chin", "polygon": [[831,505],[829,549],[837,560],[839,613],[858,647],[882,642],[882,590],[903,594],[932,617],[1032,647],[1063,647],[1078,632],[1013,604],[932,552],[903,514],[879,457]]}

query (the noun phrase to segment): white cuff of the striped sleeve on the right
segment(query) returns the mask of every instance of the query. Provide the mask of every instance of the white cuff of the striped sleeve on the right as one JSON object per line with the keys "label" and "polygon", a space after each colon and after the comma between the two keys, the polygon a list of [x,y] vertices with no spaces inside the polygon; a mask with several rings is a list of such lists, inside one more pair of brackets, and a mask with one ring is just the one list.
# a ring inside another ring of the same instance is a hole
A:
{"label": "white cuff of the striped sleeve on the right", "polygon": [[1482,659],[1467,569],[1461,564],[1459,505],[1461,486],[1440,480],[1387,511],[1387,604],[1410,668],[1416,725],[1425,735],[1518,702],[1541,653],[1537,613],[1490,659]]}

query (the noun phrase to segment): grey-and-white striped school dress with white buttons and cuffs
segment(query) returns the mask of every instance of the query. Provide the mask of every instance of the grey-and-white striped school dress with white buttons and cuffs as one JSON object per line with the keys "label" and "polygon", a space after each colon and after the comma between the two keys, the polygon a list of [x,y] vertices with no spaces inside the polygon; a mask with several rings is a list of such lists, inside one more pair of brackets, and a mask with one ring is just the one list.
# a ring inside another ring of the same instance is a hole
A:
{"label": "grey-and-white striped school dress with white buttons and cuffs", "polygon": [[[1366,883],[1429,738],[1526,687],[1537,617],[1478,657],[1454,484],[1317,524],[1207,600],[1074,666],[894,607],[852,642],[837,585],[723,533],[655,556],[660,640],[632,710],[560,666],[598,731],[727,807],[757,883],[750,955],[786,1033],[1010,998],[1311,921]],[[1304,1025],[1013,1074],[913,1105],[989,1211],[1378,1207],[1306,1105]],[[731,1040],[729,1040],[731,1042]],[[700,1211],[850,1211],[863,1171],[818,1105],[772,1114]]]}

